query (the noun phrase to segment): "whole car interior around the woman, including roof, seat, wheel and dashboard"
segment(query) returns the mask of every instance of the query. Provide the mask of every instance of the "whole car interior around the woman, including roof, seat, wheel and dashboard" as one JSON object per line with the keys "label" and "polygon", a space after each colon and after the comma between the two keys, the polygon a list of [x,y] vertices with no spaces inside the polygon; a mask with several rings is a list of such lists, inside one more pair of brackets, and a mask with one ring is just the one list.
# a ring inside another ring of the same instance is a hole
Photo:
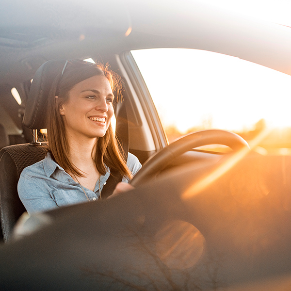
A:
{"label": "whole car interior around the woman, including roof, seat, wheel and dashboard", "polygon": [[[288,290],[291,156],[261,155],[219,129],[169,144],[131,51],[203,49],[291,75],[290,28],[218,13],[199,1],[152,3],[155,9],[144,1],[88,1],[15,0],[0,9],[0,289]],[[66,60],[88,58],[110,64],[122,79],[116,136],[143,164],[132,180],[136,189],[31,217],[32,224],[49,222],[16,240],[25,212],[19,175],[47,153],[49,87],[42,81]],[[232,151],[194,149],[211,144]],[[161,241],[170,244],[166,251]]]}

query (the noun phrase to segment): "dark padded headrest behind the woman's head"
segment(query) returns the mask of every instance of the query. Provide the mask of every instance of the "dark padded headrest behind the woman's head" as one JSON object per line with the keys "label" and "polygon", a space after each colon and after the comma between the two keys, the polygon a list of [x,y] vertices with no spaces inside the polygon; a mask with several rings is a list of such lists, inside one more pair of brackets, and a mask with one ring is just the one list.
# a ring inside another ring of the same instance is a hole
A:
{"label": "dark padded headrest behind the woman's head", "polygon": [[62,72],[64,65],[65,60],[51,60],[36,71],[23,116],[23,124],[29,129],[46,128],[47,98],[53,81]]}

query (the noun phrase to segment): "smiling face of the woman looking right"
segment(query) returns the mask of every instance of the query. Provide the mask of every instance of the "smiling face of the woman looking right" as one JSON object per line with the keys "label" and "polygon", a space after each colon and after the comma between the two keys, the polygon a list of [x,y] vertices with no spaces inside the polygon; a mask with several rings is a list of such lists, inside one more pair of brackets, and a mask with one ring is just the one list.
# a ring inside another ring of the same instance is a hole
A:
{"label": "smiling face of the woman looking right", "polygon": [[60,107],[67,136],[81,140],[104,136],[113,116],[113,98],[104,76],[93,76],[76,84]]}

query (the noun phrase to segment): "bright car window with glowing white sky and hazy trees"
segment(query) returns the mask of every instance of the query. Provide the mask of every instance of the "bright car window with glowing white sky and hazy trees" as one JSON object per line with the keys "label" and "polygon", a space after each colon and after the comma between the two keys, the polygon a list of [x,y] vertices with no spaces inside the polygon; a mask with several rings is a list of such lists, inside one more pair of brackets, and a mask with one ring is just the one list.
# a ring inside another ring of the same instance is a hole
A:
{"label": "bright car window with glowing white sky and hazy trees", "polygon": [[261,153],[289,151],[291,76],[204,50],[131,53],[169,142],[192,131],[226,129],[248,142],[260,136],[255,149]]}

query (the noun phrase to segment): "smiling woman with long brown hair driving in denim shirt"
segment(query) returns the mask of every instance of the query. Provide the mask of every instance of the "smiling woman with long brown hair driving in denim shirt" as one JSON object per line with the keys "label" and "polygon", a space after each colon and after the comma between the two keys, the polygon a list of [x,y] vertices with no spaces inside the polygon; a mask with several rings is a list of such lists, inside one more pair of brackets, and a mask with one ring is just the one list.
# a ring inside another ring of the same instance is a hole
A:
{"label": "smiling woman with long brown hair driving in denim shirt", "polygon": [[[100,199],[110,169],[129,182],[141,168],[130,153],[125,162],[111,126],[119,83],[107,66],[66,61],[48,96],[49,152],[25,168],[18,182],[29,213]],[[125,189],[123,183],[116,192]]]}

